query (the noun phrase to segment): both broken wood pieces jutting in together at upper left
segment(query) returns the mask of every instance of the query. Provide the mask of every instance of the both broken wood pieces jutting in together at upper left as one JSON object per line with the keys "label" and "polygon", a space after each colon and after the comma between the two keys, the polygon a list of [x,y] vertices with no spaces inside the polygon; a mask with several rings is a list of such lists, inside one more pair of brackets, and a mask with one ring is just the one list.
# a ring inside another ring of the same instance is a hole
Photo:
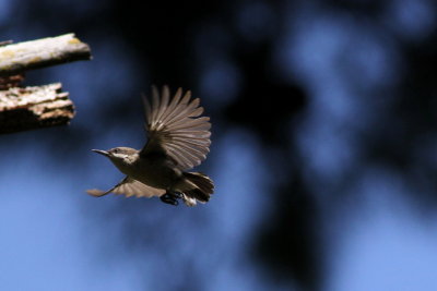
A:
{"label": "both broken wood pieces jutting in together at upper left", "polygon": [[68,124],[73,102],[60,83],[20,87],[25,71],[90,60],[90,47],[67,34],[32,41],[0,43],[0,134]]}

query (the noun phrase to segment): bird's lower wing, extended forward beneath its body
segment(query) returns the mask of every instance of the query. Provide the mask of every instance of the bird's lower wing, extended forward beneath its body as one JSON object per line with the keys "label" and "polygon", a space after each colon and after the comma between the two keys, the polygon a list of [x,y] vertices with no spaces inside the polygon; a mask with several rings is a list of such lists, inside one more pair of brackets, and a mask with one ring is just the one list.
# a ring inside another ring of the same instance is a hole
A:
{"label": "bird's lower wing, extended forward beneath its body", "polygon": [[147,197],[147,198],[153,196],[160,197],[161,195],[165,194],[164,189],[147,186],[129,177],[126,177],[121,182],[119,182],[117,185],[109,189],[108,191],[102,191],[97,189],[86,191],[86,193],[95,197],[101,197],[111,192],[115,194],[123,194],[127,197],[137,196],[137,197]]}

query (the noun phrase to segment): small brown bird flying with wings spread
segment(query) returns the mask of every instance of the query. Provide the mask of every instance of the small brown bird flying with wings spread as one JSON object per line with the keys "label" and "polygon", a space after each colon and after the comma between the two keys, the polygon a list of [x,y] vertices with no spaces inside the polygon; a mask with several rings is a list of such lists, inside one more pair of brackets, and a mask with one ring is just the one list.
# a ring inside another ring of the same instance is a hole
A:
{"label": "small brown bird flying with wings spread", "polygon": [[123,146],[92,149],[109,158],[126,177],[107,191],[87,190],[90,195],[160,197],[174,206],[179,199],[187,206],[209,202],[214,182],[202,172],[189,170],[199,166],[210,151],[210,118],[202,116],[199,98],[192,99],[190,90],[182,93],[179,87],[170,98],[165,85],[161,94],[152,86],[151,101],[143,95],[147,142],[142,149]]}

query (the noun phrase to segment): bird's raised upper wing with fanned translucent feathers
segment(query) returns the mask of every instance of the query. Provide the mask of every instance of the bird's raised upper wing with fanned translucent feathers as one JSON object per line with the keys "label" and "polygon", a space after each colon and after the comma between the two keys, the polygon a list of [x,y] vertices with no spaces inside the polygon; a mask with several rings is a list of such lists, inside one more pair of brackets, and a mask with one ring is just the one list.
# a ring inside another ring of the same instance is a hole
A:
{"label": "bird's raised upper wing with fanned translucent feathers", "polygon": [[181,170],[200,165],[210,151],[210,118],[200,117],[203,108],[199,98],[191,99],[191,92],[179,88],[170,99],[167,86],[160,95],[152,87],[152,102],[145,97],[145,130],[149,141],[140,155],[152,151],[169,156]]}

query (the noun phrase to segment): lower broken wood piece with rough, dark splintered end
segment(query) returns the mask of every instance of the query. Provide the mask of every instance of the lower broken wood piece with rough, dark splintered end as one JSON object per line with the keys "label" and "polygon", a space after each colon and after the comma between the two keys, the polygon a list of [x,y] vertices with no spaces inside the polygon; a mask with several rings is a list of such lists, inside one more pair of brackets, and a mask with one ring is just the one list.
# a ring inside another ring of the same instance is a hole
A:
{"label": "lower broken wood piece with rough, dark splintered end", "polygon": [[69,124],[74,105],[61,84],[0,90],[0,134]]}

